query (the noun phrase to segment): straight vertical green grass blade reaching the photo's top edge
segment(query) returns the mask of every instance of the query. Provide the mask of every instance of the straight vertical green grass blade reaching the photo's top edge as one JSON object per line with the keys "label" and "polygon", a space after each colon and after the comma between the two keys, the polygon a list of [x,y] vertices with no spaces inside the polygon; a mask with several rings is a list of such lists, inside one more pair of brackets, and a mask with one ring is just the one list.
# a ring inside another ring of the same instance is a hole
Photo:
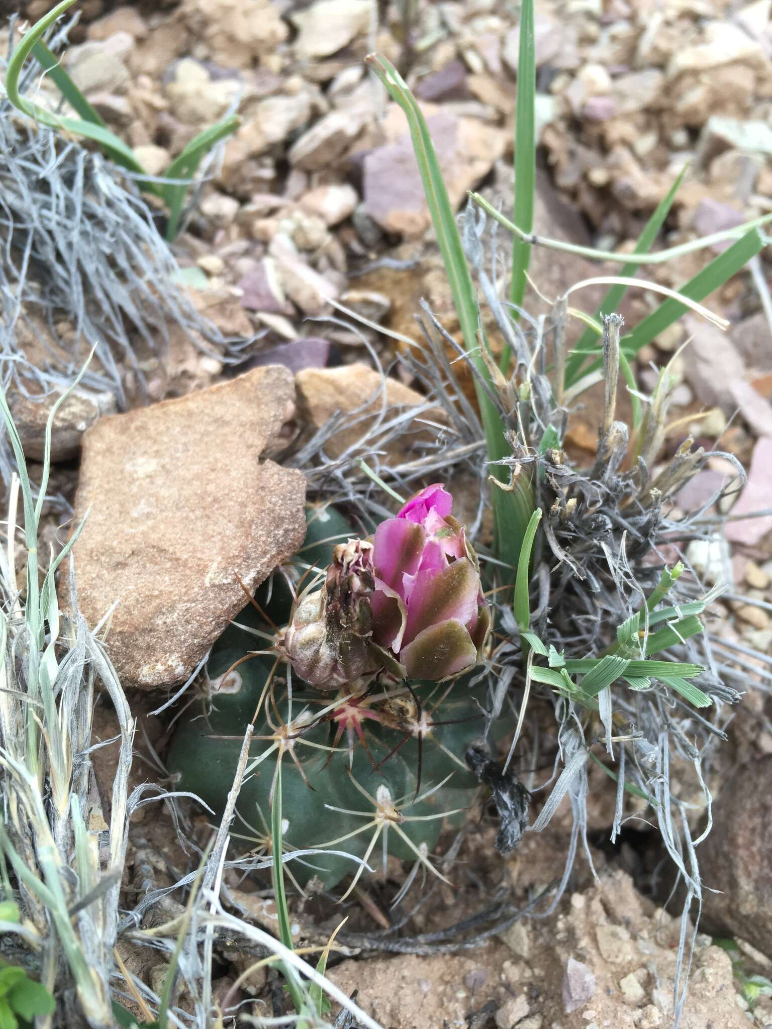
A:
{"label": "straight vertical green grass blade reaching the photo's top edge", "polygon": [[[520,50],[518,55],[518,94],[515,112],[515,208],[513,221],[524,233],[533,230],[533,198],[536,189],[536,47],[533,31],[534,0],[523,0],[520,8]],[[515,239],[512,247],[512,283],[510,298],[522,306],[526,272],[531,259],[531,244]],[[501,369],[510,363],[508,348]]]}

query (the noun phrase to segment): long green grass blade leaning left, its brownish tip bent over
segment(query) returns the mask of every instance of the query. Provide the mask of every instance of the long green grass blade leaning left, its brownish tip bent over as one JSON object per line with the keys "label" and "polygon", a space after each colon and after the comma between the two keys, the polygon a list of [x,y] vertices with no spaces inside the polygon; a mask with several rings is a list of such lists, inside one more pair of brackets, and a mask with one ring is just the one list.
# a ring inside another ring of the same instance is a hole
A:
{"label": "long green grass blade leaning left, its brownish tip bent over", "polygon": [[[401,107],[407,115],[413,148],[426,193],[426,202],[443,255],[443,263],[448,275],[464,345],[483,381],[492,389],[491,375],[478,346],[480,316],[475,286],[426,121],[407,83],[390,61],[380,56],[371,56],[367,58],[367,64],[381,80],[391,99]],[[501,416],[477,379],[475,386],[485,430],[488,459],[498,461],[511,457],[512,451],[504,437]],[[491,474],[499,483],[508,482],[508,470],[504,465],[492,465]],[[524,470],[518,478],[524,478],[525,474]],[[494,488],[492,502],[496,555],[512,568],[517,568],[522,540],[528,526],[528,520],[533,511],[533,501],[530,499],[527,483],[524,480],[522,486],[517,484],[516,490],[512,493]]]}

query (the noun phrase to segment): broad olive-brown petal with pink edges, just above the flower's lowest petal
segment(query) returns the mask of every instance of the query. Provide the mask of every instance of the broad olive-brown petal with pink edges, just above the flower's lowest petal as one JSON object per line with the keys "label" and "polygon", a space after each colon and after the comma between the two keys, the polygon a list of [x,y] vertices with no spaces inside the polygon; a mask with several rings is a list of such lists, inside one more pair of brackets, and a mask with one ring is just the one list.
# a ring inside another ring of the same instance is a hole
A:
{"label": "broad olive-brown petal with pink edges, just above the flower's lowest petal", "polygon": [[408,604],[405,642],[448,618],[465,626],[477,613],[479,593],[480,576],[468,558],[460,558],[438,572],[419,572]]}

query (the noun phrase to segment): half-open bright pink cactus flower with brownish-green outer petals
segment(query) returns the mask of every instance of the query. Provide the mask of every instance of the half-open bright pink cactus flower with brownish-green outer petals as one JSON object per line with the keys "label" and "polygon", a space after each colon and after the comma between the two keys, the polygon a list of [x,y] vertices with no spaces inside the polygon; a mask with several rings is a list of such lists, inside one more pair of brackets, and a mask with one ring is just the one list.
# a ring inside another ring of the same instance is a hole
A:
{"label": "half-open bright pink cactus flower with brownish-green outer petals", "polygon": [[441,484],[427,486],[376,529],[373,639],[409,678],[469,671],[490,629],[477,557],[452,506]]}

